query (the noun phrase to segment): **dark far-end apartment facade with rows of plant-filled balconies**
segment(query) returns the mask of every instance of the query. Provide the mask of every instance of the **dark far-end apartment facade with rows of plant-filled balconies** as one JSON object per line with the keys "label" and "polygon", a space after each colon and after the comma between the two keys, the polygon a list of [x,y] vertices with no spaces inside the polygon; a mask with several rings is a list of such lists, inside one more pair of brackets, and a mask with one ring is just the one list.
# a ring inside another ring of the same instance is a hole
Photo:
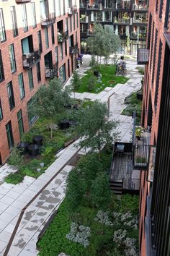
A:
{"label": "dark far-end apartment facade with rows of plant-filled balconies", "polygon": [[137,54],[146,47],[148,0],[80,0],[81,42],[92,36],[94,23],[110,27],[120,35],[120,52]]}

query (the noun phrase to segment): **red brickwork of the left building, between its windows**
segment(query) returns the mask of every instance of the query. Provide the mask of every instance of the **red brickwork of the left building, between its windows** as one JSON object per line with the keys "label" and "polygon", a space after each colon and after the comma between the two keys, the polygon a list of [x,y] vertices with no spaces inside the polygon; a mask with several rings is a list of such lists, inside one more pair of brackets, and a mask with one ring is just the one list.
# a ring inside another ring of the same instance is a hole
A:
{"label": "red brickwork of the left building, between its windows", "polygon": [[[79,12],[79,10],[78,10]],[[19,15],[19,14],[17,14]],[[75,14],[76,15],[76,14]],[[3,116],[4,119],[0,121],[0,156],[1,161],[4,163],[6,159],[9,157],[9,146],[7,142],[6,137],[6,127],[5,125],[11,121],[12,122],[12,133],[14,137],[14,143],[17,144],[19,142],[19,128],[17,123],[17,112],[22,109],[22,118],[23,118],[23,124],[24,124],[24,132],[27,132],[29,130],[29,124],[27,119],[27,101],[32,98],[32,95],[35,94],[35,92],[40,88],[40,85],[45,84],[48,82],[48,80],[45,80],[45,64],[44,64],[44,56],[49,51],[52,51],[53,56],[53,64],[55,63],[55,46],[58,46],[58,28],[57,28],[57,22],[60,20],[63,20],[63,27],[65,27],[66,23],[66,17],[68,17],[68,14],[63,15],[61,17],[57,17],[55,20],[54,26],[54,34],[55,34],[55,44],[52,45],[51,41],[51,27],[48,27],[48,38],[49,38],[49,48],[46,49],[45,47],[45,30],[41,27],[40,24],[37,24],[37,27],[32,28],[29,27],[28,31],[24,33],[23,28],[19,28],[19,35],[14,38],[12,30],[6,30],[6,41],[4,43],[0,43],[0,49],[1,49],[1,56],[3,60],[4,65],[4,76],[5,80],[0,83],[0,98],[1,98],[1,106],[3,110]],[[4,20],[7,17],[4,17]],[[73,15],[72,15],[73,19]],[[68,17],[69,20],[69,17]],[[77,24],[77,23],[76,23]],[[40,71],[41,71],[41,81],[37,82],[37,67],[36,65],[32,67],[32,76],[34,81],[34,88],[30,91],[29,88],[29,81],[28,81],[28,73],[27,70],[23,69],[22,66],[22,45],[21,40],[23,38],[26,38],[29,35],[32,35],[33,38],[33,46],[34,48],[38,48],[38,39],[37,39],[37,31],[41,30],[42,35],[42,54],[40,59]],[[73,22],[72,22],[72,32],[69,28],[68,23],[68,36],[73,35],[74,43],[76,44],[76,31],[77,31],[77,38],[78,38],[78,46],[80,49],[80,32],[79,27],[73,30]],[[14,43],[14,51],[15,51],[15,59],[17,64],[17,72],[14,72],[12,74],[11,67],[10,67],[10,61],[9,61],[9,50],[8,46],[10,44]],[[63,64],[66,64],[66,79],[68,80],[68,64],[67,61],[70,59],[70,72],[71,72],[71,55],[69,55],[69,39],[67,40],[67,56],[65,56],[65,43],[63,43],[63,60],[60,58],[60,47],[58,47],[58,68],[60,68]],[[73,69],[75,67],[74,65],[74,59],[75,56],[73,56]],[[20,100],[19,95],[19,85],[18,85],[18,75],[20,73],[23,73],[23,80],[24,80],[24,90],[25,90],[25,98]],[[58,72],[59,74],[59,72]],[[8,95],[6,90],[6,85],[9,81],[12,81],[13,90],[14,90],[14,101],[15,101],[15,107],[10,111],[9,109],[9,101],[8,101]]]}

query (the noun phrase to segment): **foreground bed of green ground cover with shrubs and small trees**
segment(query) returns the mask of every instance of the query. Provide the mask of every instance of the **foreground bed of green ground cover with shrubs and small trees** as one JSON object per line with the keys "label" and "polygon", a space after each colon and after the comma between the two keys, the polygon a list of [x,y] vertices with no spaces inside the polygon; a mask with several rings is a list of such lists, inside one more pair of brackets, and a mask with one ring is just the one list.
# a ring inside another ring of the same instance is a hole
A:
{"label": "foreground bed of green ground cover with shrubs and small trees", "polygon": [[[71,256],[138,255],[138,196],[104,195],[109,189],[111,161],[112,152],[108,150],[102,150],[100,161],[97,153],[79,160],[68,176],[66,198],[38,242],[40,256],[61,252]],[[101,176],[104,179],[97,187]]]}

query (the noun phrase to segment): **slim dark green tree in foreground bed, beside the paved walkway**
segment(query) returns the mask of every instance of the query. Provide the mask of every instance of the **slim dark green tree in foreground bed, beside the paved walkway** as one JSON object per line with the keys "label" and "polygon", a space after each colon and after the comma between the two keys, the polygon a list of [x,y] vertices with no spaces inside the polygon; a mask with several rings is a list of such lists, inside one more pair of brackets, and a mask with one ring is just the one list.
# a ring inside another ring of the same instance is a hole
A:
{"label": "slim dark green tree in foreground bed, beside the paved walkway", "polygon": [[[74,168],[67,178],[66,200],[69,213],[75,213],[84,195],[84,182],[81,180],[79,170]],[[77,221],[76,221],[77,222]]]}

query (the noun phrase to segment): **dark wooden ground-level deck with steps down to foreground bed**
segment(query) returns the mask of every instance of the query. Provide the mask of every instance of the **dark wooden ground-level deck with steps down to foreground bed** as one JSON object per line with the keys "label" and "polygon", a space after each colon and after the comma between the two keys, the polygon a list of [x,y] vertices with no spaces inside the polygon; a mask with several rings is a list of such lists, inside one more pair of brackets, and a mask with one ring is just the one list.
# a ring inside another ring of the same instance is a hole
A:
{"label": "dark wooden ground-level deck with steps down to foreground bed", "polygon": [[110,189],[115,194],[139,193],[140,171],[133,168],[132,149],[132,143],[115,142],[109,171]]}

